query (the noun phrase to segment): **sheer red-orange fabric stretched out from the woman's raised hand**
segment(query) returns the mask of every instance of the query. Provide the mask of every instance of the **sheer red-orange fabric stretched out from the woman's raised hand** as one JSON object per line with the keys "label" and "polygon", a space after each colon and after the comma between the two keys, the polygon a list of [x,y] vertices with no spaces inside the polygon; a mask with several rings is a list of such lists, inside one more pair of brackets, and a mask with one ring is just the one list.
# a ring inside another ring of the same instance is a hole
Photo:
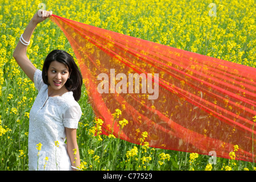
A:
{"label": "sheer red-orange fabric stretched out from the woman's raised hand", "polygon": [[255,159],[255,68],[57,15],[51,20],[79,61],[103,134],[141,144],[147,131],[142,144],[222,158],[237,144],[236,159]]}

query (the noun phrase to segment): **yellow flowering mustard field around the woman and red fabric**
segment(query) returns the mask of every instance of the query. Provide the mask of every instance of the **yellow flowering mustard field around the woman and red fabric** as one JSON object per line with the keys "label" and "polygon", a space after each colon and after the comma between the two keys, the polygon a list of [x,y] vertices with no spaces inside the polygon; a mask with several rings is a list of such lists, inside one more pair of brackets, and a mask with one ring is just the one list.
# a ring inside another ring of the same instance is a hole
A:
{"label": "yellow flowering mustard field around the woman and red fabric", "polygon": [[[0,0],[1,171],[28,169],[29,113],[37,90],[16,64],[13,51],[32,16],[44,7],[77,22],[256,67],[254,1]],[[36,27],[27,56],[36,68],[42,69],[45,57],[53,49],[64,49],[75,57],[63,32],[47,19]],[[79,104],[83,112],[77,130],[81,170],[256,170],[254,163],[236,160],[239,146],[234,146],[230,159],[217,158],[212,163],[208,155],[152,148],[147,143],[129,143],[113,135],[94,135],[104,121],[94,118],[84,86]],[[117,110],[115,114],[122,113]],[[141,136],[142,140],[146,137],[146,133]],[[39,146],[35,147],[40,150]]]}

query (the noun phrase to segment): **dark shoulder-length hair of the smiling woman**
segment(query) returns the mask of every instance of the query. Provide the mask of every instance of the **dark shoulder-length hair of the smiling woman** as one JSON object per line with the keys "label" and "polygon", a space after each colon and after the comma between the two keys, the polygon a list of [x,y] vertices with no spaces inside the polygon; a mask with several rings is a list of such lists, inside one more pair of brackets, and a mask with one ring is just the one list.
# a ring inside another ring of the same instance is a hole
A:
{"label": "dark shoulder-length hair of the smiling woman", "polygon": [[82,75],[73,57],[69,53],[59,49],[53,50],[47,55],[46,59],[44,60],[42,70],[43,81],[47,85],[49,85],[49,83],[46,74],[52,61],[58,61],[59,63],[64,63],[67,65],[68,72],[71,74],[67,82],[65,82],[65,86],[69,92],[73,92],[73,97],[75,100],[79,101],[81,97]]}

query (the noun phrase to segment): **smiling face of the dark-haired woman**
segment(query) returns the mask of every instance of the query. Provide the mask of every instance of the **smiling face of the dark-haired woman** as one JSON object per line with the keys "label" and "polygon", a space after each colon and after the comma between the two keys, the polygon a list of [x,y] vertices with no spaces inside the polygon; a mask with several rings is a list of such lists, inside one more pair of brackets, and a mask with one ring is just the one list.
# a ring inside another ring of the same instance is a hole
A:
{"label": "smiling face of the dark-haired woman", "polygon": [[[68,80],[69,71],[67,65],[52,61],[47,72],[48,83],[54,90],[65,89],[65,82]],[[64,86],[64,87],[63,87]]]}

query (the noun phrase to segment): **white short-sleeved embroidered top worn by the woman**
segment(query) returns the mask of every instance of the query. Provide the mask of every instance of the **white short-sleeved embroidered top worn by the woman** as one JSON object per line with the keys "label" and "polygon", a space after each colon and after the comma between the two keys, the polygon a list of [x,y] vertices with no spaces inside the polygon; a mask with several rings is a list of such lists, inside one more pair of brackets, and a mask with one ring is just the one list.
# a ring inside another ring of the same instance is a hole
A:
{"label": "white short-sleeved embroidered top worn by the woman", "polygon": [[[64,143],[65,127],[77,129],[82,114],[81,108],[73,98],[73,92],[48,97],[48,85],[44,84],[42,71],[39,69],[35,72],[34,83],[39,93],[30,111],[28,169],[72,170]],[[55,146],[55,141],[59,142],[59,147]],[[36,149],[38,143],[42,143],[39,159]]]}

